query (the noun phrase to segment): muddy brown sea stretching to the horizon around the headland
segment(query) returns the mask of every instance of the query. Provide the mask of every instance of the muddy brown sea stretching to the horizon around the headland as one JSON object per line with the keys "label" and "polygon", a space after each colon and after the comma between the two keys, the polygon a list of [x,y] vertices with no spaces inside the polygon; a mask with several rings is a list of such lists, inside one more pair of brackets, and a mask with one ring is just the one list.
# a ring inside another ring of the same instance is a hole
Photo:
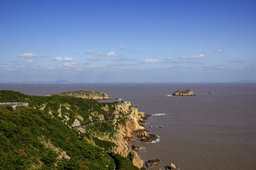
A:
{"label": "muddy brown sea stretching to the horizon around the headland", "polygon": [[[179,89],[197,96],[167,96]],[[29,95],[91,90],[131,102],[153,115],[145,127],[160,139],[132,143],[146,148],[138,153],[142,160],[160,159],[148,170],[171,163],[180,170],[256,170],[255,83],[0,84],[0,90]]]}

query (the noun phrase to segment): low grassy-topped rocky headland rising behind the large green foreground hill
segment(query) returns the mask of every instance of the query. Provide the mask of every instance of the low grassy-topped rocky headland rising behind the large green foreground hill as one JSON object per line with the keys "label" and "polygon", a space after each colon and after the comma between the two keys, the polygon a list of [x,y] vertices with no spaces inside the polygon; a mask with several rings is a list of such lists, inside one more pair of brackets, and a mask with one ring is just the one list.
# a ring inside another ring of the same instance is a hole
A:
{"label": "low grassy-topped rocky headland rising behind the large green foreground hill", "polygon": [[74,96],[74,97],[80,97],[80,98],[83,98],[83,99],[95,99],[95,100],[112,99],[106,93],[86,91],[86,90],[63,92],[63,93],[57,93],[57,94],[49,94],[49,95],[45,95],[45,96],[53,96],[53,95]]}

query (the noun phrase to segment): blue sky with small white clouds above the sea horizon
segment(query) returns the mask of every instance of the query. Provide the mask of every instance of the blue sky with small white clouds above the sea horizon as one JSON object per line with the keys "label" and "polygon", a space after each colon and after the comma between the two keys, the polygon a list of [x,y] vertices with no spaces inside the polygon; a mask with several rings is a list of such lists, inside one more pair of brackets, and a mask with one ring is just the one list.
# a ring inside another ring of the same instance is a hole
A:
{"label": "blue sky with small white clouds above the sea horizon", "polygon": [[256,80],[255,0],[1,0],[0,82]]}

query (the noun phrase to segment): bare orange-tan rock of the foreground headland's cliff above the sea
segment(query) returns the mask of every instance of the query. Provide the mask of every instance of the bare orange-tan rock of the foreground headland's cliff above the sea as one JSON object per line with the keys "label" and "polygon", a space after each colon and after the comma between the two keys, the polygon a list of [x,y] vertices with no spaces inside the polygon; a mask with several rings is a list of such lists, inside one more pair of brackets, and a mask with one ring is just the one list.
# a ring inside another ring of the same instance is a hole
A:
{"label": "bare orange-tan rock of the foreground headland's cliff above the sea", "polygon": [[[109,112],[109,107],[101,108],[105,111]],[[146,117],[144,112],[138,112],[137,108],[132,105],[130,102],[122,102],[116,103],[115,110],[113,111],[114,114],[127,114],[129,115],[115,115],[113,124],[117,129],[117,132],[114,134],[113,137],[109,135],[97,135],[100,140],[110,141],[115,143],[117,146],[113,147],[110,152],[119,153],[124,157],[129,156],[131,158],[132,163],[141,168],[143,166],[143,161],[138,157],[137,153],[129,148],[129,140],[132,139],[132,133],[136,131],[145,131],[145,127],[139,125],[139,121],[143,121],[143,118]],[[123,122],[120,122],[122,117]],[[79,124],[79,120],[75,120],[76,124]],[[79,128],[81,132],[84,133],[83,128]]]}

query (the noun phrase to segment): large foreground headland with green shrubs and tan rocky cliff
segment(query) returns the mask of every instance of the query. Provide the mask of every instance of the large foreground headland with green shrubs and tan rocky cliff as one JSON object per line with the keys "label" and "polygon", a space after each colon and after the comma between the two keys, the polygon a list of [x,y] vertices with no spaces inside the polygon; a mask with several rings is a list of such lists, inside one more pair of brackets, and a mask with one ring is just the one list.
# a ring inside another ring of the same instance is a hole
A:
{"label": "large foreground headland with green shrubs and tan rocky cliff", "polygon": [[[145,116],[129,102],[100,103],[73,96],[31,96],[0,91],[0,167],[2,170],[139,170],[142,161],[128,138],[142,130]],[[112,113],[130,113],[114,116]],[[73,129],[92,121],[85,128]],[[127,158],[125,158],[127,157]],[[115,161],[114,161],[115,160]],[[136,165],[136,166],[134,166]],[[138,168],[137,168],[138,167]],[[144,169],[144,168],[141,168]]]}

